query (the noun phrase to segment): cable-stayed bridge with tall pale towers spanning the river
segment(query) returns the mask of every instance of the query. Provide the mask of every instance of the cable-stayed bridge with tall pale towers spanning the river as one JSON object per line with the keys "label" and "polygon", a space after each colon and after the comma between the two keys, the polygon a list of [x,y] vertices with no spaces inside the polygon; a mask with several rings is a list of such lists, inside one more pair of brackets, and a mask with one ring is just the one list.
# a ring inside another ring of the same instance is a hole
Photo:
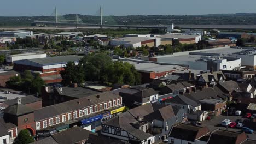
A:
{"label": "cable-stayed bridge with tall pale towers spanning the river", "polygon": [[[96,14],[96,16],[100,16],[100,21],[95,23],[84,23],[78,14],[75,14],[73,17],[74,20],[66,20],[63,16],[58,14],[57,8],[55,7],[53,13],[50,15],[50,17],[54,17],[54,20],[50,21],[34,21],[33,25],[39,26],[39,27],[47,27],[47,26],[75,26],[76,28],[80,26],[94,26],[94,27],[116,27],[116,28],[159,28],[159,29],[167,29],[170,26],[164,25],[127,25],[127,21],[125,25],[110,25],[103,22],[103,15],[102,15],[102,7],[97,11],[97,13],[100,13],[99,15]],[[124,22],[125,23],[125,22]]]}

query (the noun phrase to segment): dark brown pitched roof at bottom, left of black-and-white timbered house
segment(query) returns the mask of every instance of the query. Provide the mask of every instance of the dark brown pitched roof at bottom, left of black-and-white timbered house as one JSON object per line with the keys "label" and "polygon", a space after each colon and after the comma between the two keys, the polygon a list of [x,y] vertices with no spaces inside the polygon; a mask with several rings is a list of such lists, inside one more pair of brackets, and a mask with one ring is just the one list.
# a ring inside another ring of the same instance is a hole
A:
{"label": "dark brown pitched roof at bottom, left of black-and-white timbered house", "polygon": [[53,137],[53,139],[57,143],[73,144],[73,143],[80,142],[82,140],[87,140],[89,138],[89,134],[97,135],[96,133],[92,133],[89,130],[86,130],[80,127],[73,127],[65,131],[62,131],[60,133],[51,135],[51,137]]}

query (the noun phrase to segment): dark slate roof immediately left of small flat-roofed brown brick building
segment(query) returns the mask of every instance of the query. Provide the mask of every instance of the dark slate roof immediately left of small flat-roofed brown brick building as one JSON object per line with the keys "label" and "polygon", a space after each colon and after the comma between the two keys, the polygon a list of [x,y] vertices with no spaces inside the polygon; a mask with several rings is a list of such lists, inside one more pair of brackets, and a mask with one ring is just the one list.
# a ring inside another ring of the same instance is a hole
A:
{"label": "dark slate roof immediately left of small flat-roofed brown brick building", "polygon": [[166,99],[165,103],[173,103],[173,104],[180,104],[180,105],[191,105],[191,106],[199,106],[200,103],[190,99],[189,97],[185,97],[184,95],[177,95],[171,99]]}

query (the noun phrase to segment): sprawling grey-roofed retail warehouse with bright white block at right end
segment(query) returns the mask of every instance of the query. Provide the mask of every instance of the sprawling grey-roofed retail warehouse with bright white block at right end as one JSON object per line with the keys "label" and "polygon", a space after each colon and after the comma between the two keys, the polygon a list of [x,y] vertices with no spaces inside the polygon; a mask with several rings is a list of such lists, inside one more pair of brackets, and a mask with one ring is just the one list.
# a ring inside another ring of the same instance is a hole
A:
{"label": "sprawling grey-roofed retail warehouse with bright white block at right end", "polygon": [[149,61],[163,62],[171,64],[188,65],[190,69],[207,71],[213,67],[214,71],[233,70],[241,66],[239,57],[230,57],[234,52],[240,52],[241,49],[232,49],[229,47],[195,50],[187,52],[177,52],[173,55],[149,57]]}

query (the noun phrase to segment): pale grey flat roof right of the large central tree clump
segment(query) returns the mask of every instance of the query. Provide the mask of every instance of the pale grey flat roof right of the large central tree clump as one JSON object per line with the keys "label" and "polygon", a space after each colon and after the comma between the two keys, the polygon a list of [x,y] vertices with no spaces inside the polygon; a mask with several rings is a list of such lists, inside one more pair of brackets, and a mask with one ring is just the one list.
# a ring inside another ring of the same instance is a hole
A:
{"label": "pale grey flat roof right of the large central tree clump", "polygon": [[133,64],[135,66],[136,70],[141,71],[152,71],[155,73],[161,73],[165,71],[171,71],[171,70],[178,70],[178,69],[185,69],[185,67],[179,66],[179,65],[161,65],[156,63],[137,63],[133,61],[125,61],[130,64]]}

